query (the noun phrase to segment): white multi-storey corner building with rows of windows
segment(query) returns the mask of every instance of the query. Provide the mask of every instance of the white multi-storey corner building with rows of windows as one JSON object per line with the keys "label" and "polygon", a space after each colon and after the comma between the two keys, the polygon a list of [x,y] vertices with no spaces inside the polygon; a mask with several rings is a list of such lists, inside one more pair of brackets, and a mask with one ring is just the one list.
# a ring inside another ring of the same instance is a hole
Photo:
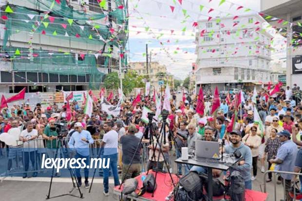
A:
{"label": "white multi-storey corner building with rows of windows", "polygon": [[271,35],[262,31],[263,18],[198,21],[196,86],[213,90],[241,88],[270,80]]}

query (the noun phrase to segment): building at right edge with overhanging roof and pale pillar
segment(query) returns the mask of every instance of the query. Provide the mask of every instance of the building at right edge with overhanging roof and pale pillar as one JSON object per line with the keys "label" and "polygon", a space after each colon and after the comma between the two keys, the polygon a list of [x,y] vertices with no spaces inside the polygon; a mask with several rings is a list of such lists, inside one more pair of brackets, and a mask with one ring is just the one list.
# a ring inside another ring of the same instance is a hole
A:
{"label": "building at right edge with overhanging roof and pale pillar", "polygon": [[[286,42],[286,85],[302,86],[302,1],[300,0],[261,0],[261,12]],[[280,20],[289,23],[280,23]],[[278,23],[279,22],[279,23]]]}

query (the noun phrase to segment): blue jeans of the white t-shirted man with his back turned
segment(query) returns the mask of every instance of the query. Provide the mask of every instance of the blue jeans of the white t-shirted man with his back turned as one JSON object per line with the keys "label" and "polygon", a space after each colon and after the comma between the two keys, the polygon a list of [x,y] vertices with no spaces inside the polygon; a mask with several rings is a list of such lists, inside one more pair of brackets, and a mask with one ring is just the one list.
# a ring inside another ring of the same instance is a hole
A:
{"label": "blue jeans of the white t-shirted man with his back turned", "polygon": [[112,155],[105,155],[103,156],[104,159],[110,159],[109,162],[109,168],[104,168],[104,191],[105,193],[108,193],[109,190],[109,170],[111,168],[112,173],[113,173],[113,179],[114,179],[114,186],[119,185],[119,180],[118,180],[118,173],[117,173],[117,153],[112,154]]}

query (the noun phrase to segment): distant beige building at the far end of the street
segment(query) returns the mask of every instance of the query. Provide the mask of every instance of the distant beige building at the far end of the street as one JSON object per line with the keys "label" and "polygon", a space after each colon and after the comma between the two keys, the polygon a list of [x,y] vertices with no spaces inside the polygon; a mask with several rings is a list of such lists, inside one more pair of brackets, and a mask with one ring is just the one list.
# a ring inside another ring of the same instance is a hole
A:
{"label": "distant beige building at the far end of the street", "polygon": [[139,75],[146,76],[146,78],[149,75],[151,87],[155,87],[155,89],[160,88],[160,80],[168,82],[170,89],[174,89],[174,76],[167,72],[165,65],[160,65],[158,62],[150,62],[149,73],[147,73],[146,62],[131,62],[130,68]]}

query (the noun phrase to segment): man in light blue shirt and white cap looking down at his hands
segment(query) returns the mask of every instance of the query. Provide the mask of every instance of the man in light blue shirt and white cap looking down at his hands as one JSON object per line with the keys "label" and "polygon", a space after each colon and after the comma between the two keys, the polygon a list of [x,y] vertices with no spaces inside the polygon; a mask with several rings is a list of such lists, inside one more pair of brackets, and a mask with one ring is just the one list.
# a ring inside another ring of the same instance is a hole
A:
{"label": "man in light blue shirt and white cap looking down at his hands", "polygon": [[[76,132],[73,133],[71,136],[68,146],[69,148],[76,149],[76,156],[75,158],[85,159],[85,168],[84,168],[84,175],[85,175],[85,188],[89,188],[88,176],[89,176],[89,168],[87,165],[90,165],[90,156],[89,156],[89,144],[94,143],[94,139],[91,137],[91,134],[87,130],[83,130],[82,124],[80,122],[76,122],[75,124]],[[80,168],[76,168],[76,177],[78,186],[81,187],[82,185],[82,178],[80,173]]]}

